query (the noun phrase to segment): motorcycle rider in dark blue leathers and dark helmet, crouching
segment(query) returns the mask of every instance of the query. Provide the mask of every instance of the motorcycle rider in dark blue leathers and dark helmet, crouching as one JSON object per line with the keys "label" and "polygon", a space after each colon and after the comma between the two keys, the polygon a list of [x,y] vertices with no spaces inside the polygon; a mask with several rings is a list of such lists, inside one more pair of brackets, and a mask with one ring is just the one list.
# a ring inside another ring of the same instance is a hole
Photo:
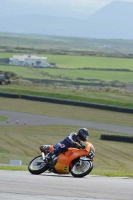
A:
{"label": "motorcycle rider in dark blue leathers and dark helmet, crouching", "polygon": [[54,145],[54,150],[46,155],[46,160],[52,161],[53,155],[64,153],[69,147],[85,148],[83,141],[86,141],[89,136],[89,131],[86,128],[80,128],[77,133],[72,132],[64,140]]}

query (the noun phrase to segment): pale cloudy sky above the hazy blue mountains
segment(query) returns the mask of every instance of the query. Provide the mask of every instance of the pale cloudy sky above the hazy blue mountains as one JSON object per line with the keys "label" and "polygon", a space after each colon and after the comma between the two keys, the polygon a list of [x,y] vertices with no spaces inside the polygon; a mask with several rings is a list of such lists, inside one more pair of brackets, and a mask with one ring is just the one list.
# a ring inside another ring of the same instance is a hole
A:
{"label": "pale cloudy sky above the hazy blue mountains", "polygon": [[[74,13],[76,18],[85,19],[113,1],[133,2],[133,0],[0,0],[0,4],[5,2],[8,6],[8,3],[10,2],[12,5],[19,5],[19,7],[21,7],[21,5],[27,6],[27,8],[36,6],[36,11],[38,13],[40,12],[40,14],[43,13],[45,8],[45,13],[49,15],[54,13],[54,15],[58,16],[59,13],[60,16],[66,17],[67,13],[69,13],[69,16],[71,17],[72,13]],[[10,6],[8,9],[10,9]],[[48,12],[49,10],[51,13]],[[64,12],[64,10],[66,11]],[[18,13],[19,12],[20,10],[18,10]],[[33,10],[33,12],[35,11]],[[14,10],[13,13],[17,14],[17,9]],[[23,13],[26,14],[26,9],[23,9]]]}

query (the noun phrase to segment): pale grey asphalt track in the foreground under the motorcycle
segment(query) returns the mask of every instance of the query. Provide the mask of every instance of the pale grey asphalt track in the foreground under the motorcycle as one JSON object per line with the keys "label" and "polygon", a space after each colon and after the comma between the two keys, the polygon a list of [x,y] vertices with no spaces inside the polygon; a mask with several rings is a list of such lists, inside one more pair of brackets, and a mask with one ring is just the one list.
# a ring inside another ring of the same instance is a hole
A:
{"label": "pale grey asphalt track in the foreground under the motorcycle", "polygon": [[1,200],[132,200],[132,178],[0,171]]}

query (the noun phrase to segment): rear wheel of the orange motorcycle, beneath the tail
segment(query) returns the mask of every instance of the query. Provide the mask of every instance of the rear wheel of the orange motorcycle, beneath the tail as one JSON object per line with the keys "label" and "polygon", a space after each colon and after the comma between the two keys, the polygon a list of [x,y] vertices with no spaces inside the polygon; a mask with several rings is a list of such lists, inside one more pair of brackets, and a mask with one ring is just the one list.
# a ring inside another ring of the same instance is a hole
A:
{"label": "rear wheel of the orange motorcycle, beneath the tail", "polygon": [[28,165],[28,170],[31,174],[39,175],[45,172],[48,169],[48,165],[45,160],[42,159],[42,156],[35,157]]}

